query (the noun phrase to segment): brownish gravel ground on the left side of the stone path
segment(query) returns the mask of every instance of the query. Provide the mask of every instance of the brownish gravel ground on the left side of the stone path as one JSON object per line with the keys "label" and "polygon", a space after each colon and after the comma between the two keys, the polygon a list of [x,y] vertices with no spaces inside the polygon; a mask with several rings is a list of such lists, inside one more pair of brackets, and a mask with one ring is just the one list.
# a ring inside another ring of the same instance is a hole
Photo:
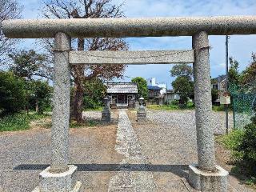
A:
{"label": "brownish gravel ground on the left side of the stone path", "polygon": [[[86,113],[90,114],[94,113]],[[108,190],[122,161],[122,155],[114,150],[116,131],[114,123],[70,129],[70,163],[78,166],[75,178],[82,182],[82,191]],[[0,191],[34,190],[39,173],[50,164],[50,129],[0,133],[0,143]]]}

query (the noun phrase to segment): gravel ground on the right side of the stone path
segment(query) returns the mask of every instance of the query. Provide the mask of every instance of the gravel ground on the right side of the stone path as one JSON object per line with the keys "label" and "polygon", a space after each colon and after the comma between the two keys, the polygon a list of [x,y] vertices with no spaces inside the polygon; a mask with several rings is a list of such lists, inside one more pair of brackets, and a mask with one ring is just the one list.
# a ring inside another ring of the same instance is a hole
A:
{"label": "gravel ground on the right side of the stone path", "polygon": [[[184,187],[187,184],[184,178],[188,178],[187,165],[197,163],[194,111],[148,110],[147,122],[135,121],[135,115],[134,111],[130,111],[129,117],[142,151],[155,167],[153,175],[159,191],[193,191],[189,186]],[[224,118],[225,113],[213,112],[215,134],[225,133]],[[230,177],[229,191],[253,190]]]}

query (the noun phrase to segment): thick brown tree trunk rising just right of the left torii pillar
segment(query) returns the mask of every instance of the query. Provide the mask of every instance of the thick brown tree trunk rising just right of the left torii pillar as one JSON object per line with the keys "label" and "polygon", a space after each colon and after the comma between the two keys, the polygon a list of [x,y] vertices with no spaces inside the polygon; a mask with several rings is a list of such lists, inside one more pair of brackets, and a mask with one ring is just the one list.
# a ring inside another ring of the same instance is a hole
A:
{"label": "thick brown tree trunk rising just right of the left torii pillar", "polygon": [[[78,39],[78,50],[84,50],[85,41],[82,38]],[[71,116],[75,118],[78,124],[83,122],[82,110],[83,110],[83,78],[84,78],[84,66],[74,66],[74,96]]]}

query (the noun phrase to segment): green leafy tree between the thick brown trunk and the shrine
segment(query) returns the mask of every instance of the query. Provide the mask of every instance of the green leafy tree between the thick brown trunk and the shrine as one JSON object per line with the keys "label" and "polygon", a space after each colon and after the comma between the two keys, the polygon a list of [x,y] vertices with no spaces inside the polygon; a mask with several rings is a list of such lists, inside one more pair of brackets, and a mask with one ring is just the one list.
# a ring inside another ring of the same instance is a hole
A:
{"label": "green leafy tree between the thick brown trunk and the shrine", "polygon": [[84,82],[83,103],[85,108],[95,109],[102,106],[102,100],[106,95],[106,86],[99,78]]}

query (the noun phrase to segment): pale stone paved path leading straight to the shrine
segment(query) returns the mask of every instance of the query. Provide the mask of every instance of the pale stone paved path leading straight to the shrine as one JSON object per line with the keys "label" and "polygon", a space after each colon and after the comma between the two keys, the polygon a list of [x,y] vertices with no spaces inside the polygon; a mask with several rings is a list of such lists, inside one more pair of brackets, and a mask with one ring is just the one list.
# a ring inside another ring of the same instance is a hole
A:
{"label": "pale stone paved path leading straight to the shrine", "polygon": [[115,150],[125,158],[120,163],[118,173],[110,178],[108,191],[156,191],[153,174],[147,170],[146,158],[126,110],[119,110],[116,143]]}

